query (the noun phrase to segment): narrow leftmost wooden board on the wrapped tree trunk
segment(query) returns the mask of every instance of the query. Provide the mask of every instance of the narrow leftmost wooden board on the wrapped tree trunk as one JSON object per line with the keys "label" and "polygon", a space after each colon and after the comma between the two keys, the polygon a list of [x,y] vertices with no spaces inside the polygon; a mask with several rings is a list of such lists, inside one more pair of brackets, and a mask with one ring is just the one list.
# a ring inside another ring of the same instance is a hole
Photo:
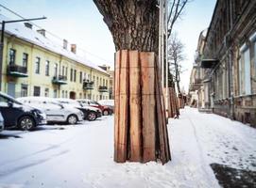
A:
{"label": "narrow leftmost wooden board on the wrapped tree trunk", "polygon": [[118,129],[119,129],[119,76],[120,76],[120,64],[121,64],[121,51],[115,53],[115,65],[114,65],[114,161],[118,162],[119,146],[118,146]]}

